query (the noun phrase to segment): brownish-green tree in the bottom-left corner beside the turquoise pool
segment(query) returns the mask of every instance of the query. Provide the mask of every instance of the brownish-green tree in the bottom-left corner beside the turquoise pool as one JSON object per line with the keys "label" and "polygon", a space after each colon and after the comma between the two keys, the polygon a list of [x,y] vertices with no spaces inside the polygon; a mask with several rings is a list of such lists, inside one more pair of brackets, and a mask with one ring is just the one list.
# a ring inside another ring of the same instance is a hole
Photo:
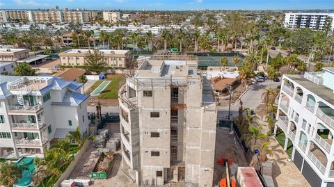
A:
{"label": "brownish-green tree in the bottom-left corner beside the turquoise pool", "polygon": [[22,169],[15,163],[1,163],[0,166],[0,186],[11,187],[22,177]]}

